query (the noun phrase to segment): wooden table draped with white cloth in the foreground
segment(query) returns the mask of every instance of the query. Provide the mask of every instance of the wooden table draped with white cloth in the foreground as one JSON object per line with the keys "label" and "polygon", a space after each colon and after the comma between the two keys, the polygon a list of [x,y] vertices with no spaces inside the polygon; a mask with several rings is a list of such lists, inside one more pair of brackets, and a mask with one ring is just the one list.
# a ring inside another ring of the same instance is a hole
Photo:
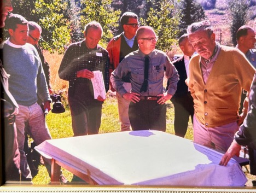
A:
{"label": "wooden table draped with white cloth in the foreground", "polygon": [[222,153],[155,130],[126,131],[52,139],[35,148],[52,158],[51,183],[60,166],[90,184],[243,186],[241,166]]}

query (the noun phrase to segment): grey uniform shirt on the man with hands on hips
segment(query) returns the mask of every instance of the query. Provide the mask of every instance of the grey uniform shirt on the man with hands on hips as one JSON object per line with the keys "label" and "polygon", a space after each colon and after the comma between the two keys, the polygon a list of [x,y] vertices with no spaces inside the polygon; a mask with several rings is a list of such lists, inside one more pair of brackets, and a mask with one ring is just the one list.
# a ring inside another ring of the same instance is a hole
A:
{"label": "grey uniform shirt on the man with hands on hips", "polygon": [[136,50],[120,62],[110,77],[114,89],[121,96],[127,93],[121,79],[130,74],[132,92],[139,93],[141,96],[157,96],[164,93],[163,79],[166,75],[167,79],[170,80],[167,92],[174,95],[177,90],[179,75],[168,56],[160,50],[153,50],[149,54],[148,90],[143,93],[140,92],[144,80],[144,57],[145,54],[141,50]]}

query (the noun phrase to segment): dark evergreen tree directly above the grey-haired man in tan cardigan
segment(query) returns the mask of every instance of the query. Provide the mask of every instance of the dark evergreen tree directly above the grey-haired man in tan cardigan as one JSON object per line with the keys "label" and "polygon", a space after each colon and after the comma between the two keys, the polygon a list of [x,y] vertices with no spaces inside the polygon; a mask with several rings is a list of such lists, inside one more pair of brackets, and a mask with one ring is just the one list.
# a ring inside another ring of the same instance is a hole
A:
{"label": "dark evergreen tree directly above the grey-haired man in tan cardigan", "polygon": [[187,33],[187,28],[190,24],[206,18],[202,5],[194,0],[182,0],[179,3],[179,10],[181,10],[181,17],[179,20],[180,32],[178,37]]}

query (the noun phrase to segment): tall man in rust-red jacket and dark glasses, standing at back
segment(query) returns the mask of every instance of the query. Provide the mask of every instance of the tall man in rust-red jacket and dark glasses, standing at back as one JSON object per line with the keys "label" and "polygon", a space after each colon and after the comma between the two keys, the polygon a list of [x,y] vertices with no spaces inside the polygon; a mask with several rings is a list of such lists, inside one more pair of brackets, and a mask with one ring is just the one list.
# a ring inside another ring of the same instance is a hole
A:
{"label": "tall man in rust-red jacket and dark glasses, standing at back", "polygon": [[[117,68],[119,63],[127,54],[138,49],[138,43],[135,37],[136,31],[139,27],[138,16],[132,12],[125,12],[121,16],[120,24],[124,31],[110,40],[107,46],[110,59],[109,73],[112,73],[114,69]],[[123,86],[126,91],[130,92],[130,81],[127,80],[127,78],[124,78],[123,82]],[[110,90],[113,92],[115,91],[111,83]],[[128,116],[130,102],[121,97],[118,92],[116,96],[118,100],[118,114],[121,122],[121,131],[130,131],[131,124]]]}

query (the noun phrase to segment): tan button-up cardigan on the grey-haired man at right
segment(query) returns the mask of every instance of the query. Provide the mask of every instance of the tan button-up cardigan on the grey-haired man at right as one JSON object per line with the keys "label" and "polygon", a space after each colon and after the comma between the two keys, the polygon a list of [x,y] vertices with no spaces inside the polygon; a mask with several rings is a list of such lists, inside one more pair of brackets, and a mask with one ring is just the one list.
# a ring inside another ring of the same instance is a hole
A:
{"label": "tan button-up cardigan on the grey-haired man at right", "polygon": [[189,89],[194,98],[196,118],[208,127],[238,120],[241,91],[249,91],[255,69],[241,51],[221,46],[217,61],[205,84],[200,56],[189,63]]}

